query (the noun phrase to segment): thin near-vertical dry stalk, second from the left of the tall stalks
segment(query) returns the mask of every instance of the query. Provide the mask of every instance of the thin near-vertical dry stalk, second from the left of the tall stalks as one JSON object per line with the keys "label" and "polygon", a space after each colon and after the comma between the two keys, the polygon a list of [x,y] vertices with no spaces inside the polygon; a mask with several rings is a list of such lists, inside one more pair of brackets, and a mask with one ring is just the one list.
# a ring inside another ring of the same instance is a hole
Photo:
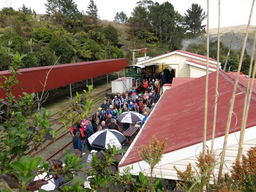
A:
{"label": "thin near-vertical dry stalk, second from the left of the tall stalks", "polygon": [[212,143],[211,143],[211,155],[213,154],[215,127],[216,127],[216,114],[217,114],[217,102],[218,102],[218,81],[219,81],[219,60],[220,60],[220,0],[219,0],[219,20],[218,20],[218,44],[217,44],[217,70],[216,70],[216,85],[215,85],[215,102],[212,124]]}

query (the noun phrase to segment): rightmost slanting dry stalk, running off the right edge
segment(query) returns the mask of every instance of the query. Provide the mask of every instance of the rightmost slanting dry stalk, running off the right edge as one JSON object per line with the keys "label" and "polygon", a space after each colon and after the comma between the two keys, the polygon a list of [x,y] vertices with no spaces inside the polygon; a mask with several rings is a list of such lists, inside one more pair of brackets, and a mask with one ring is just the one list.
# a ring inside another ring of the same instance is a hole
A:
{"label": "rightmost slanting dry stalk, running off the right edge", "polygon": [[244,108],[243,108],[243,116],[242,116],[242,124],[241,124],[241,133],[240,133],[239,148],[238,148],[238,153],[237,153],[238,161],[240,161],[241,154],[243,152],[244,132],[245,132],[245,127],[246,127],[246,123],[247,123],[250,100],[251,100],[251,96],[252,96],[252,87],[253,87],[255,71],[256,71],[256,63],[254,63],[253,74],[252,74],[252,79],[251,79],[252,63],[253,63],[254,52],[255,52],[255,44],[256,44],[256,28],[255,28],[253,45],[252,45],[252,55],[251,55],[249,73],[248,73],[247,89],[246,89],[246,93],[244,96]]}

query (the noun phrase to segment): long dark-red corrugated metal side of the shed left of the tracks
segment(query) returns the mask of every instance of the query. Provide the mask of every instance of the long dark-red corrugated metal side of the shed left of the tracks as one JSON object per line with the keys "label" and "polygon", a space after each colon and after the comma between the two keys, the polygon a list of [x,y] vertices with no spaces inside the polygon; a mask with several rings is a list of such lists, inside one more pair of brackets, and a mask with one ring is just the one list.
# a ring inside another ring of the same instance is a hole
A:
{"label": "long dark-red corrugated metal side of the shed left of the tracks", "polygon": [[[119,71],[126,66],[127,59],[106,59],[55,65],[48,76],[46,90]],[[41,92],[43,85],[40,81],[44,84],[46,74],[51,67],[52,66],[20,69],[19,72],[22,73],[22,75],[18,75],[17,78],[20,81],[19,86],[23,87],[23,90],[15,87],[12,93],[17,97],[18,95],[22,95],[22,92]],[[8,71],[0,71],[0,76],[2,75],[9,76],[10,73]],[[4,79],[1,78],[0,81],[3,82]],[[0,98],[5,97],[5,93],[1,89]]]}

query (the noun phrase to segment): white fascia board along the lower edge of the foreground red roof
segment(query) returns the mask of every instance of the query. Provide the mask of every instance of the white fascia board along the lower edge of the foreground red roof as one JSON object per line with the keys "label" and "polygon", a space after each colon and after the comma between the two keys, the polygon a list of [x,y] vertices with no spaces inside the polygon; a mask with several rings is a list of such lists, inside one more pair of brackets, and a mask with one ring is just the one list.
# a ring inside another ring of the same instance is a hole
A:
{"label": "white fascia board along the lower edge of the foreground red roof", "polygon": [[[214,139],[214,151],[223,148],[224,137],[225,135]],[[227,147],[232,145],[237,145],[239,143],[238,141],[239,137],[240,137],[240,131],[236,131],[228,134]],[[256,139],[256,126],[245,129],[245,133],[244,133],[244,141],[249,141],[253,139]],[[211,143],[212,143],[212,140],[206,141],[207,146],[211,146]],[[202,145],[203,145],[203,142],[197,143],[188,147],[184,147],[182,149],[178,149],[175,151],[171,151],[168,153],[164,153],[160,163],[157,164],[156,167],[170,164],[175,161],[187,159],[195,155],[199,155],[199,154],[195,154],[195,152],[196,152],[196,149]],[[119,167],[119,171],[122,172],[123,169],[127,166],[133,167],[133,169],[131,169],[131,174],[136,174],[140,171],[150,169],[150,166],[148,165],[148,163],[146,163],[145,161],[138,161],[129,165]]]}

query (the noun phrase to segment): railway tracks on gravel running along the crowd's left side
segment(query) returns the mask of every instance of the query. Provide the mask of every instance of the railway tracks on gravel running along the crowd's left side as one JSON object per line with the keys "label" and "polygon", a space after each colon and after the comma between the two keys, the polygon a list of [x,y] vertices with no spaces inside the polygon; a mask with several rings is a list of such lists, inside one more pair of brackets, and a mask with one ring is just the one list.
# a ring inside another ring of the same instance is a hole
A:
{"label": "railway tracks on gravel running along the crowd's left side", "polygon": [[[109,89],[111,89],[111,88],[109,88]],[[106,94],[106,92],[109,89],[105,89],[105,90],[103,90],[101,92],[98,92],[95,95],[92,95],[89,99],[92,100],[94,103],[96,103],[97,101],[100,101],[103,97],[105,97],[105,94]],[[65,108],[65,109],[67,109],[67,108]],[[57,114],[58,113],[54,113],[54,114],[52,114],[52,116],[55,116]],[[92,115],[89,116],[89,119],[90,118],[92,118]],[[58,118],[58,119],[53,119],[51,121],[52,125],[53,124],[58,124],[60,119],[61,119],[61,117]],[[68,122],[67,123],[67,127],[70,127],[70,126],[71,126],[71,124],[70,124],[70,122]],[[57,129],[55,129],[56,132],[57,131],[60,132],[61,129],[64,128],[64,126],[61,126],[61,127],[56,126],[56,127],[58,127]],[[40,147],[40,149],[38,151],[35,151],[35,148],[32,148],[30,151],[27,152],[27,155],[30,154],[33,157],[33,156],[36,156],[36,155],[38,155],[40,153],[40,155],[43,156],[43,159],[45,161],[48,161],[52,157],[54,157],[57,154],[61,153],[65,148],[67,148],[72,143],[72,141],[70,141],[71,140],[71,136],[68,133],[70,133],[69,130],[65,131],[64,133],[59,135],[57,138],[55,138],[55,140],[52,140],[52,141],[43,140],[42,144],[38,144],[36,146],[36,148]],[[47,143],[47,141],[49,141],[49,142]],[[50,156],[49,156],[49,154],[50,154]]]}

